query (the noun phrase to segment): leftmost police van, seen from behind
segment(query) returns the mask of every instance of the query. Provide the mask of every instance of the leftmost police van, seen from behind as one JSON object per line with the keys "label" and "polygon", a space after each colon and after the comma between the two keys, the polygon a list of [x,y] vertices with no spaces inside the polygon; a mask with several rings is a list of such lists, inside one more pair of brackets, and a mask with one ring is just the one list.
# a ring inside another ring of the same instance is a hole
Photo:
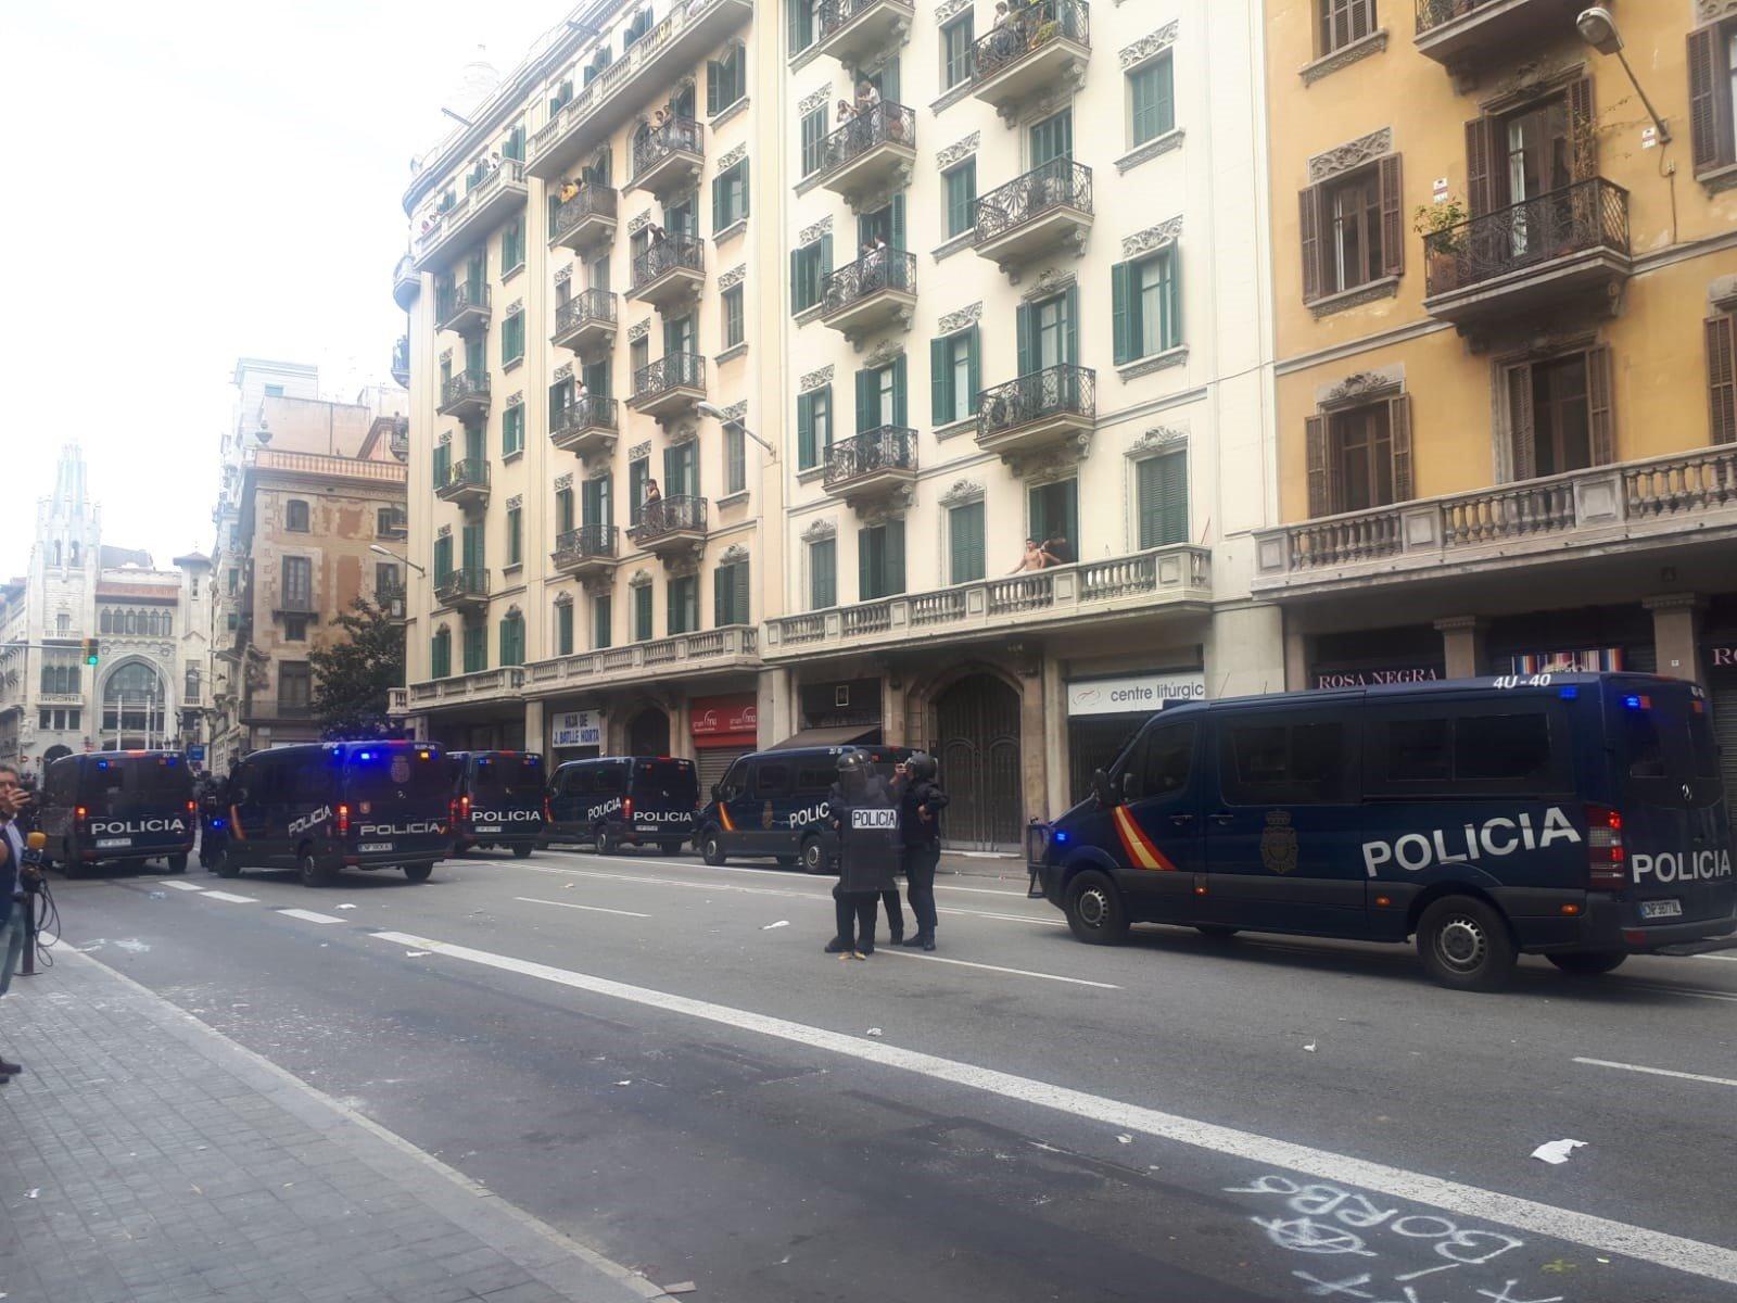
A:
{"label": "leftmost police van, seen from behind", "polygon": [[181,874],[198,829],[193,775],[174,751],[61,756],[43,773],[38,825],[68,874],[144,860]]}

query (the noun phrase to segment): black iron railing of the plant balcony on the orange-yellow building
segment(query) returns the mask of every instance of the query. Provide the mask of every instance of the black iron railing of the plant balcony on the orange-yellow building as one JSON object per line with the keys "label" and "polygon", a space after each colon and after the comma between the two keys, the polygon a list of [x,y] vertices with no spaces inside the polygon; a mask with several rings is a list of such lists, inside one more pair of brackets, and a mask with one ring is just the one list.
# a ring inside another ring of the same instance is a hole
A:
{"label": "black iron railing of the plant balcony on the orange-yellow building", "polygon": [[1430,235],[1426,294],[1452,294],[1600,248],[1629,254],[1628,191],[1591,177]]}

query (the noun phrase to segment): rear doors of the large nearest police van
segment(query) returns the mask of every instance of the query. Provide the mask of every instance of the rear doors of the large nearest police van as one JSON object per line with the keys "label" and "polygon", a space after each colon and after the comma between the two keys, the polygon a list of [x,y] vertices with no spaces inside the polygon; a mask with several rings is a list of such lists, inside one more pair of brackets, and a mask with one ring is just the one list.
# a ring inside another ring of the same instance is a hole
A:
{"label": "rear doors of the large nearest police van", "polygon": [[1631,888],[1628,928],[1728,917],[1730,820],[1707,698],[1690,683],[1605,686]]}

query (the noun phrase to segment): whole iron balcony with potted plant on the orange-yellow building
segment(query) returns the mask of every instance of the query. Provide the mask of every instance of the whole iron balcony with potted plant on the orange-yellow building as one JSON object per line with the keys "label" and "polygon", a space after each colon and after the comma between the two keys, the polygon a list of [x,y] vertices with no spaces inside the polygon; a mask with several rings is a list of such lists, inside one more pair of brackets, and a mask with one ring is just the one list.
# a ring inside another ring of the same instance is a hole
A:
{"label": "whole iron balcony with potted plant on the orange-yellow building", "polygon": [[1628,280],[1628,191],[1602,177],[1435,231],[1424,240],[1424,311],[1463,330],[1558,309]]}

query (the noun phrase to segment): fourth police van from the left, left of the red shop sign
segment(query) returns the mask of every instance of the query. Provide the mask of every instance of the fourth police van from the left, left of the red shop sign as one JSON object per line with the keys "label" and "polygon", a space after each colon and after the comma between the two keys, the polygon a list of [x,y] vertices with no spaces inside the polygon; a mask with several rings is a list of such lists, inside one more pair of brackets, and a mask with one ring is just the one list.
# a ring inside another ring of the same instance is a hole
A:
{"label": "fourth police van from the left, left of the red shop sign", "polygon": [[657,846],[676,855],[693,836],[700,780],[693,761],[604,756],[568,761],[549,780],[549,841],[591,843],[601,855]]}

